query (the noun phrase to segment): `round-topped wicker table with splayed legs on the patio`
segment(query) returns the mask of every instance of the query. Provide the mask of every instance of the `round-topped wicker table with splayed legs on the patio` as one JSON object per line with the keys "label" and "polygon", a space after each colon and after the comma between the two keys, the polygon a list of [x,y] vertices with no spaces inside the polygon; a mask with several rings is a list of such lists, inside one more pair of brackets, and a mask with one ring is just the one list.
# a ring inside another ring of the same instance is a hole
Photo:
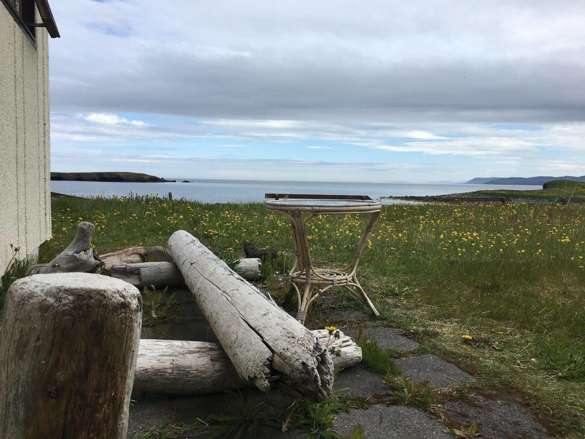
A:
{"label": "round-topped wicker table with splayed legs on the patio", "polygon": [[[369,306],[374,314],[380,315],[356,277],[357,263],[362,256],[362,251],[371,234],[374,222],[376,222],[376,218],[380,214],[381,206],[378,201],[271,200],[266,202],[266,208],[271,212],[281,212],[291,220],[296,260],[289,276],[292,286],[297,292],[297,320],[300,323],[305,323],[307,310],[312,301],[332,287],[345,287],[350,293]],[[304,212],[307,212],[305,217],[303,217]],[[348,214],[371,215],[370,222],[362,236],[357,252],[353,256],[352,263],[340,270],[315,267],[311,262],[307,242],[307,232],[305,230],[307,222],[316,215]],[[315,292],[317,288],[320,288],[320,290]],[[301,290],[303,290],[302,293]]]}

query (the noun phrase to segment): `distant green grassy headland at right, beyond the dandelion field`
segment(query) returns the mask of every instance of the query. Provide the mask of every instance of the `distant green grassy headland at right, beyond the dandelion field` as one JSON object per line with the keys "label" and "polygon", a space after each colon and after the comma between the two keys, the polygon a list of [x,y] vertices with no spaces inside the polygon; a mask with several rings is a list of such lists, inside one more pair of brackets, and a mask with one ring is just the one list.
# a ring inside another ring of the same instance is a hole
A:
{"label": "distant green grassy headland at right, beyond the dandelion field", "polygon": [[580,198],[585,199],[585,183],[569,180],[548,181],[542,189],[517,191],[517,190],[490,190],[490,185],[484,185],[484,190],[466,192],[460,194],[465,197],[508,197],[516,200],[554,201],[556,198]]}

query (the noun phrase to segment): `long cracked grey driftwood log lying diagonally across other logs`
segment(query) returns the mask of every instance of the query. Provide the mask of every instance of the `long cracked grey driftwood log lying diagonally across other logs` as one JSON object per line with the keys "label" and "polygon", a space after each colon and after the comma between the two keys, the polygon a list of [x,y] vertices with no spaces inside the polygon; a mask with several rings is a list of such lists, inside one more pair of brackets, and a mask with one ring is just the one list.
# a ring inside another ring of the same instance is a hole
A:
{"label": "long cracked grey driftwood log lying diagonally across other logs", "polygon": [[333,362],[311,331],[188,232],[171,235],[168,251],[240,378],[264,392],[276,382],[294,397],[331,395]]}

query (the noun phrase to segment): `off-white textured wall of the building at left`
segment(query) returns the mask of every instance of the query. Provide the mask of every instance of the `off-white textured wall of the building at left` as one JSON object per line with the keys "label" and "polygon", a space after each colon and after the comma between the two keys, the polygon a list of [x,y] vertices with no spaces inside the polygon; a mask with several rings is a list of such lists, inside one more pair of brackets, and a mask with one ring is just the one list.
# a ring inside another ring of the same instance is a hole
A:
{"label": "off-white textured wall of the building at left", "polygon": [[46,29],[36,44],[0,4],[0,274],[11,243],[23,258],[51,236]]}

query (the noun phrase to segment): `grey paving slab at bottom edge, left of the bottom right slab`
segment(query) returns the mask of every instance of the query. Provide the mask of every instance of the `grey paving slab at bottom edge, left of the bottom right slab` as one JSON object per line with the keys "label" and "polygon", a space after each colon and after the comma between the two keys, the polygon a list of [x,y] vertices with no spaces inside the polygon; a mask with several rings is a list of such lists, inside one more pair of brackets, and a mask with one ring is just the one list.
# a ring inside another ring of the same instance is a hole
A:
{"label": "grey paving slab at bottom edge, left of the bottom right slab", "polygon": [[441,422],[415,407],[377,404],[336,416],[334,428],[342,435],[349,435],[360,424],[368,439],[453,439]]}

